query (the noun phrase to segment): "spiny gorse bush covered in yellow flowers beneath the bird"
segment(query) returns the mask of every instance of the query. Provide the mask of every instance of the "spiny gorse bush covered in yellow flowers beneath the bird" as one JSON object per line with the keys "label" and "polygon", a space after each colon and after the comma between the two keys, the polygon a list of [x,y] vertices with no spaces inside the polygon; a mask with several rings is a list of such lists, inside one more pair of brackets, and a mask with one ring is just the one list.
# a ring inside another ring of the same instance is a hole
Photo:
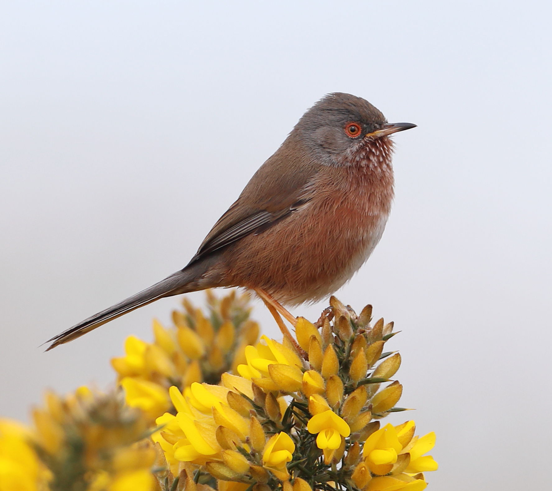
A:
{"label": "spiny gorse bush covered in yellow flowers beneath the bird", "polygon": [[33,425],[0,420],[1,491],[419,491],[435,435],[397,407],[393,324],[335,297],[296,339],[262,336],[247,294],[184,300],[153,342],[114,358],[119,389],[46,394]]}

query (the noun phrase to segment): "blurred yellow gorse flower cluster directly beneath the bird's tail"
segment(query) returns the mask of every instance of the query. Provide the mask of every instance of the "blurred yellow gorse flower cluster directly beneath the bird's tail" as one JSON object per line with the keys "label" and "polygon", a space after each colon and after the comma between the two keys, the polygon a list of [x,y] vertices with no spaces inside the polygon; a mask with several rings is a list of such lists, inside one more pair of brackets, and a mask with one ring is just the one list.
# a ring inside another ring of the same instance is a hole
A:
{"label": "blurred yellow gorse flower cluster directly beneath the bird's tail", "polygon": [[248,299],[231,292],[219,300],[209,293],[209,318],[184,300],[184,312],[173,312],[174,327],[153,321],[153,343],[129,336],[125,356],[112,359],[127,403],[155,419],[169,409],[170,386],[218,382],[221,373],[236,369],[258,337],[257,323],[248,320]]}

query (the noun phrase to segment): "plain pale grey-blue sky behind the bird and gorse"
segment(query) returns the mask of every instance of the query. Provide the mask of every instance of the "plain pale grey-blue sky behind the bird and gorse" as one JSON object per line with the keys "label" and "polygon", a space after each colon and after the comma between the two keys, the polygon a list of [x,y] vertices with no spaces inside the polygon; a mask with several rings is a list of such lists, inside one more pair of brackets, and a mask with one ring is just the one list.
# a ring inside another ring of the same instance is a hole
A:
{"label": "plain pale grey-blue sky behind the bird and gorse", "polygon": [[0,415],[112,383],[124,338],[151,339],[177,298],[38,345],[182,268],[305,109],[344,91],[418,124],[395,138],[383,239],[337,295],[402,330],[401,404],[437,432],[429,489],[548,488],[551,15],[535,0],[2,2]]}

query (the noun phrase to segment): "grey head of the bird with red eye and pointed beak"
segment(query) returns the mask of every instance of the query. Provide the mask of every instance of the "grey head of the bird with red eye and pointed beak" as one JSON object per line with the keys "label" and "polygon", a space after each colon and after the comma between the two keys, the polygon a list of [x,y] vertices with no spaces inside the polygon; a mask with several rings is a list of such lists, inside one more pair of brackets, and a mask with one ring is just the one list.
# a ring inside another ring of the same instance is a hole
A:
{"label": "grey head of the bird with red eye and pointed beak", "polygon": [[[390,159],[389,135],[415,127],[389,124],[367,100],[343,92],[328,94],[312,106],[294,128],[305,145],[328,165],[368,163],[370,152]],[[383,155],[382,155],[383,156]]]}

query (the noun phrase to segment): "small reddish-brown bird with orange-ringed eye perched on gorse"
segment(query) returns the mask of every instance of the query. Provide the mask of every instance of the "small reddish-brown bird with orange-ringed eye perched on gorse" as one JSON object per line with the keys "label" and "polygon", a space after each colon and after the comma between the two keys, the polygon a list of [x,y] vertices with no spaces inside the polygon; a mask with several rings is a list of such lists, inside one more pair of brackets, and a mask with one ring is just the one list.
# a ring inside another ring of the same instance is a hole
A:
{"label": "small reddish-brown bird with orange-ringed eye perched on gorse", "polygon": [[394,196],[390,135],[414,127],[388,123],[360,97],[323,97],[185,268],[49,339],[46,351],[163,297],[221,286],[256,291],[275,317],[294,324],[284,305],[331,295],[378,244]]}

